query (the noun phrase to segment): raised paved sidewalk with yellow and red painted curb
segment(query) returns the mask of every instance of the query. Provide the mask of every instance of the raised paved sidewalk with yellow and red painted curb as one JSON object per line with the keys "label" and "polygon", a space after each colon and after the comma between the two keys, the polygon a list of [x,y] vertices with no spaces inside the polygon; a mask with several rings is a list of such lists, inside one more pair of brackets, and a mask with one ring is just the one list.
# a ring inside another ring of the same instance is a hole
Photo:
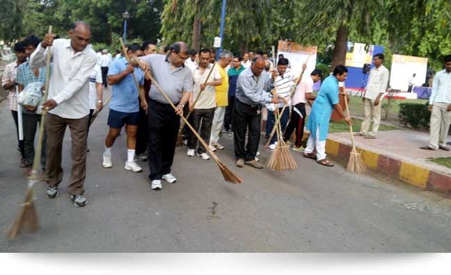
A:
{"label": "raised paved sidewalk with yellow and red painted curb", "polygon": [[[355,137],[356,147],[368,168],[451,196],[451,169],[428,160],[451,157],[451,151],[420,149],[428,144],[428,139],[428,133],[411,130],[379,132],[376,140]],[[351,147],[349,133],[329,134],[326,151],[330,155],[347,161]]]}

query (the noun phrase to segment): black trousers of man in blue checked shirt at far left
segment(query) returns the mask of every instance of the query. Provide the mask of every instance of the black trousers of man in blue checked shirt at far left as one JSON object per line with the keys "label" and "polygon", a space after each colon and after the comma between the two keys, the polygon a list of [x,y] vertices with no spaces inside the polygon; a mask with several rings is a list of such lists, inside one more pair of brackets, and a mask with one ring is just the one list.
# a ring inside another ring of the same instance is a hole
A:
{"label": "black trousers of man in blue checked shirt at far left", "polygon": [[[35,135],[36,130],[38,129],[38,124],[40,125],[40,119],[41,115],[38,115],[36,113],[34,114],[26,114],[22,113],[22,120],[24,124],[24,152],[25,152],[25,159],[29,163],[33,163],[34,156],[35,156],[35,148],[34,148],[34,141],[35,141]],[[47,142],[47,135],[45,134],[42,136],[42,149],[41,149],[41,156],[40,156],[40,164],[42,167],[42,170],[45,169],[45,145]]]}

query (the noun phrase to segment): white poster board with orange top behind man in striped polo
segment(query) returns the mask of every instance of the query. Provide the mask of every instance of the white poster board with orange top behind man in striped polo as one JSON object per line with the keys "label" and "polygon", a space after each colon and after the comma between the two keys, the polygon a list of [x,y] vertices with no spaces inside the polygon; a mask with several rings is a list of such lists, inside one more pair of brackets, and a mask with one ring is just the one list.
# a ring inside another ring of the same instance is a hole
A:
{"label": "white poster board with orange top behind man in striped polo", "polygon": [[295,42],[279,40],[278,42],[278,53],[283,54],[285,58],[290,60],[290,66],[292,69],[292,73],[294,76],[299,76],[301,74],[302,65],[307,62],[306,72],[304,72],[303,77],[310,76],[310,73],[316,67],[316,59],[317,59],[318,47],[316,46],[302,46],[300,44],[296,44]]}

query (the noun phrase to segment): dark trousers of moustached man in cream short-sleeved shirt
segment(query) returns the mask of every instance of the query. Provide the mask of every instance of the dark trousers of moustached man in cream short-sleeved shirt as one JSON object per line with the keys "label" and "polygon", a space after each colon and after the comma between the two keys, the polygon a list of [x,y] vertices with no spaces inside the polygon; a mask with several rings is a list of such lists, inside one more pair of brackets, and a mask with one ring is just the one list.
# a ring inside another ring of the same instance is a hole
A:
{"label": "dark trousers of moustached man in cream short-sleeved shirt", "polygon": [[[212,133],[214,109],[215,108],[194,109],[191,114],[191,117],[193,117],[193,128],[199,131],[200,127],[200,138],[203,138],[207,144],[209,142],[210,134]],[[189,131],[188,148],[196,149],[197,143],[198,138],[196,138],[196,135],[194,135],[193,132]],[[198,153],[205,153],[205,148],[202,144],[199,144]]]}

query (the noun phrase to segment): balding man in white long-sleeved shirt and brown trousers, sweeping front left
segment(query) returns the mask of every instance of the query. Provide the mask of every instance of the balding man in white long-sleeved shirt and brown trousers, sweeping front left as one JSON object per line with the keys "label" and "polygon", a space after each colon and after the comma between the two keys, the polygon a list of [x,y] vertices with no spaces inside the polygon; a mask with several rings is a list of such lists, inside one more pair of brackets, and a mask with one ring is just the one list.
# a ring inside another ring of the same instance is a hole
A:
{"label": "balding man in white long-sleeved shirt and brown trousers, sweeping front left", "polygon": [[[72,172],[69,192],[74,206],[86,206],[84,181],[86,178],[86,150],[89,117],[89,76],[95,69],[95,51],[88,47],[90,26],[85,22],[72,24],[70,39],[55,39],[46,34],[30,57],[30,67],[44,67],[47,51],[52,53],[52,71],[47,101],[42,108],[47,133],[47,167],[45,181],[49,184],[45,194],[49,199],[58,196],[58,185],[63,180],[61,155],[65,128],[72,136]],[[51,48],[47,49],[47,47]],[[47,50],[46,50],[47,49]]]}

